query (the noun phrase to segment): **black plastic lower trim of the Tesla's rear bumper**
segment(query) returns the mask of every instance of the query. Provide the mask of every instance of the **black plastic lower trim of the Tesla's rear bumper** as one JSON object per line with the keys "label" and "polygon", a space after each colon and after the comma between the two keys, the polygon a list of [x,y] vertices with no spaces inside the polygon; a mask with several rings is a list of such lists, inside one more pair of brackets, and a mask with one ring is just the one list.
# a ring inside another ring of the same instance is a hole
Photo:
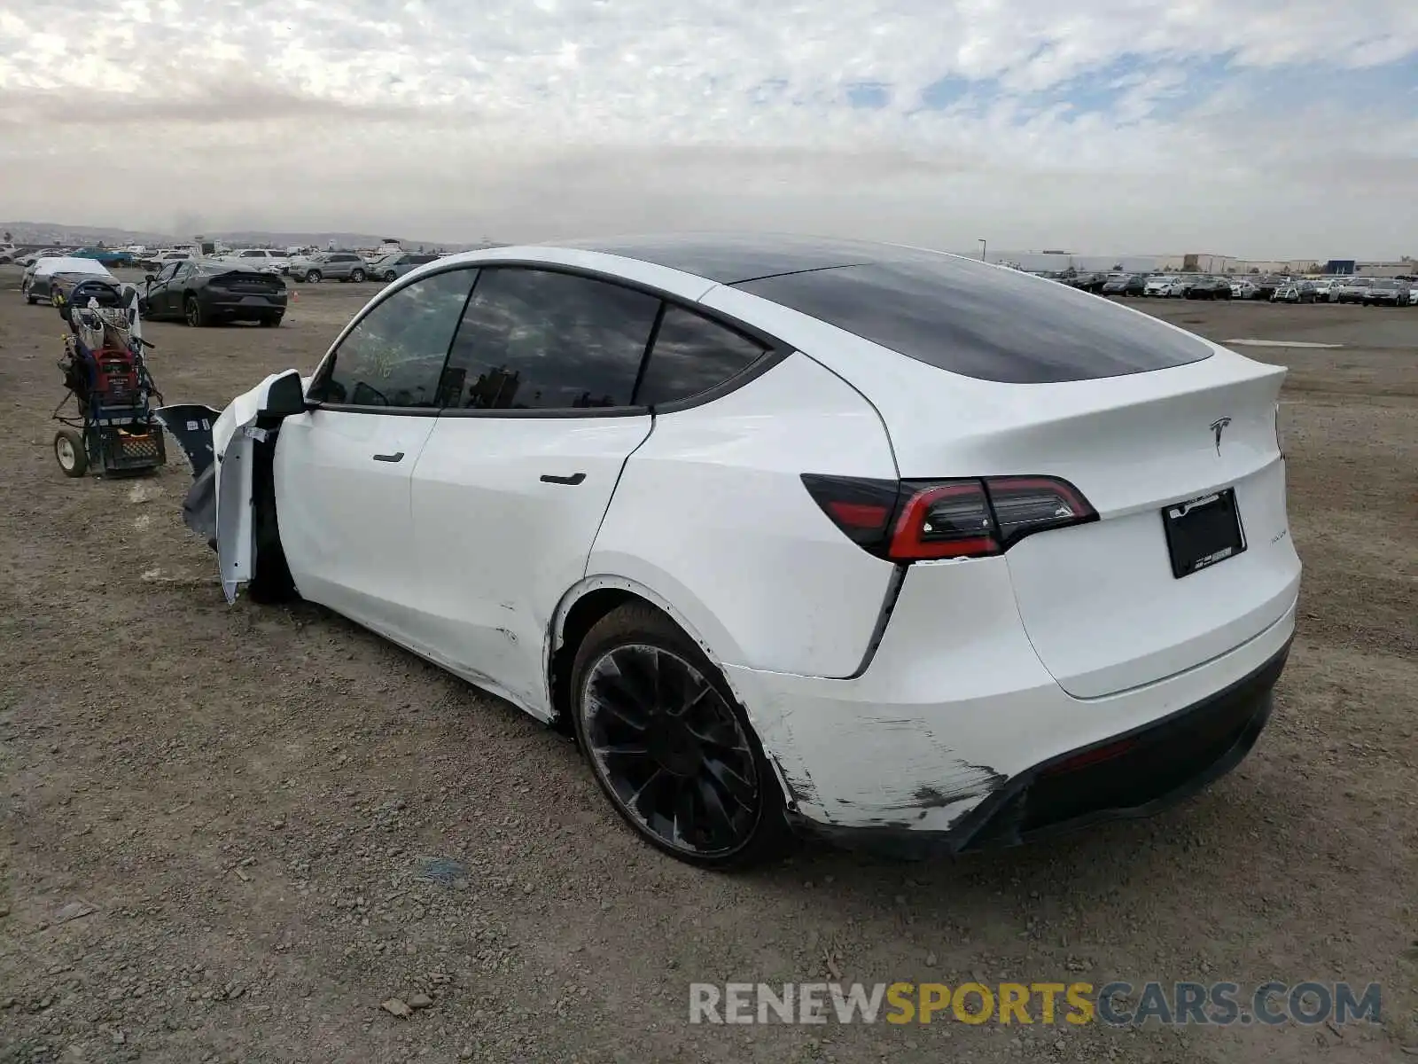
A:
{"label": "black plastic lower trim of the Tesla's rear bumper", "polygon": [[1146,817],[1239,765],[1271,716],[1290,643],[1263,665],[1200,702],[1140,728],[1041,762],[1007,780],[947,831],[844,827],[795,816],[800,834],[849,850],[923,858],[987,850]]}

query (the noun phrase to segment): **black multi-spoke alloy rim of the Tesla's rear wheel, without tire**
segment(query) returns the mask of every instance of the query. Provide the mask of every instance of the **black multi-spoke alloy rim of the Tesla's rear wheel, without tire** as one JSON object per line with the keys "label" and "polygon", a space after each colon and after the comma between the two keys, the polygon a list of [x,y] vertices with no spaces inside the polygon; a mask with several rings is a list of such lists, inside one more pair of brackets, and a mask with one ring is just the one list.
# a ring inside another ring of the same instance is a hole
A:
{"label": "black multi-spoke alloy rim of the Tesla's rear wheel, without tire", "polygon": [[753,748],[733,708],[689,661],[642,643],[586,671],[583,735],[621,811],[671,850],[723,857],[761,814]]}

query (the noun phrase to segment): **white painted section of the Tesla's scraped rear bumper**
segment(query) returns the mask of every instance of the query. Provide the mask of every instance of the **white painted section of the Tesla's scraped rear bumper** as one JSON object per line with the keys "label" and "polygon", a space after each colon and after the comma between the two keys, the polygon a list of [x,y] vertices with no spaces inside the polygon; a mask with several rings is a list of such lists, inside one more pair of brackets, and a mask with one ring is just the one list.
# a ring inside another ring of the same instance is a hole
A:
{"label": "white painted section of the Tesla's scraped rear bumper", "polygon": [[1082,699],[1039,661],[1008,589],[1004,559],[912,566],[861,677],[725,667],[807,827],[949,838],[1034,766],[1185,711],[1262,668],[1295,630],[1292,600],[1259,636],[1204,665]]}

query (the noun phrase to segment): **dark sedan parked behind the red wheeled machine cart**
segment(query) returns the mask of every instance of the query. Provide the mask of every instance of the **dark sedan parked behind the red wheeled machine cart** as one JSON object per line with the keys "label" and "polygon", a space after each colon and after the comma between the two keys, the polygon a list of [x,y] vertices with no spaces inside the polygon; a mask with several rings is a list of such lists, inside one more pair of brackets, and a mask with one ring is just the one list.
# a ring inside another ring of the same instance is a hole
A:
{"label": "dark sedan parked behind the red wheeled machine cart", "polygon": [[191,326],[242,321],[274,326],[285,316],[285,281],[268,270],[199,258],[169,262],[146,281],[145,318]]}

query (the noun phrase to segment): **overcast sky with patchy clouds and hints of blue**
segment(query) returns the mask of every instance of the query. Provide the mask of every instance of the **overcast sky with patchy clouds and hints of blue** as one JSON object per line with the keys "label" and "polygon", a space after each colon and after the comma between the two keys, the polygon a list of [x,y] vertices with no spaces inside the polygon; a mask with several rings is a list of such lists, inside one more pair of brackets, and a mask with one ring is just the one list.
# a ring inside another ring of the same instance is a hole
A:
{"label": "overcast sky with patchy clouds and hints of blue", "polygon": [[0,217],[1418,254],[1418,0],[21,0]]}

